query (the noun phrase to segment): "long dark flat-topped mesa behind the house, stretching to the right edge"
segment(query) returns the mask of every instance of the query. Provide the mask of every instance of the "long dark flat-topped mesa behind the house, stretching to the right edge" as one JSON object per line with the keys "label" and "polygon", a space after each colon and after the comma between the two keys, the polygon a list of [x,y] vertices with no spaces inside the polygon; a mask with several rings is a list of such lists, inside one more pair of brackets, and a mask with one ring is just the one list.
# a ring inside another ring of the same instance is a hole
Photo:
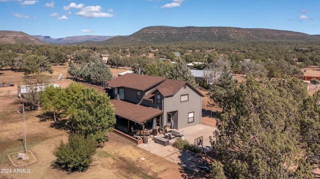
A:
{"label": "long dark flat-topped mesa behind the house, stretching to the right edge", "polygon": [[128,36],[115,36],[101,42],[101,44],[117,45],[183,41],[320,41],[320,35],[265,28],[150,26]]}

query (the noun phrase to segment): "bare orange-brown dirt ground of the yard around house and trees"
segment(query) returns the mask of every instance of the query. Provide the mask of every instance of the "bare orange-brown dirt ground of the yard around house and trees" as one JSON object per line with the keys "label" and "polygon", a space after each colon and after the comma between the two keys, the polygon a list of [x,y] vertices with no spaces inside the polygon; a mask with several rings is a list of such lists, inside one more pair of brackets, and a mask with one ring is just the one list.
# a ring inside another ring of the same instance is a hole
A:
{"label": "bare orange-brown dirt ground of the yard around house and trees", "polygon": [[[67,86],[71,80],[66,79],[67,65],[52,66],[54,78],[62,73],[62,78],[54,83],[61,87]],[[114,76],[127,69],[110,68]],[[55,160],[52,151],[59,142],[67,140],[67,131],[64,125],[54,125],[52,121],[46,121],[41,117],[40,111],[25,112],[26,149],[32,151],[37,162],[23,167],[13,167],[7,157],[8,154],[24,150],[23,114],[16,110],[21,109],[17,98],[17,85],[21,84],[21,72],[9,70],[0,71],[1,78],[10,81],[14,86],[0,88],[0,169],[8,169],[9,173],[0,173],[1,179],[182,179],[199,178],[197,174],[190,174],[180,166],[166,161],[158,156],[150,154],[115,133],[109,133],[108,142],[103,148],[98,148],[94,156],[94,162],[84,173],[72,173],[59,171],[52,167]],[[13,79],[11,81],[11,79]],[[9,91],[9,92],[8,92]],[[7,94],[7,95],[1,95]],[[6,92],[6,93],[3,93]],[[203,92],[205,94],[205,92]],[[204,98],[203,100],[207,100]],[[210,110],[203,107],[206,113]],[[214,112],[215,109],[212,108]],[[209,114],[209,113],[207,113]],[[202,124],[215,125],[214,118],[204,117]],[[21,141],[23,139],[23,142]],[[145,160],[141,160],[141,158]],[[24,169],[24,170],[23,170]],[[3,171],[2,171],[3,172]]]}

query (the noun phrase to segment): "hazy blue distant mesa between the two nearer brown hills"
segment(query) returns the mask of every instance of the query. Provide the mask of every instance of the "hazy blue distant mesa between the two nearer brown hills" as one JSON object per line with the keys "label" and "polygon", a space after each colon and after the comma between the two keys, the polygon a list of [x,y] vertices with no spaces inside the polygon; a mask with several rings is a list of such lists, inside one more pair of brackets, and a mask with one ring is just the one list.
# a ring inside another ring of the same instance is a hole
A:
{"label": "hazy blue distant mesa between the two nearer brown hills", "polygon": [[110,39],[114,36],[102,36],[102,35],[83,35],[83,36],[70,36],[64,38],[51,38],[50,36],[33,35],[33,37],[47,43],[74,43],[74,42],[84,42],[84,41],[104,41]]}

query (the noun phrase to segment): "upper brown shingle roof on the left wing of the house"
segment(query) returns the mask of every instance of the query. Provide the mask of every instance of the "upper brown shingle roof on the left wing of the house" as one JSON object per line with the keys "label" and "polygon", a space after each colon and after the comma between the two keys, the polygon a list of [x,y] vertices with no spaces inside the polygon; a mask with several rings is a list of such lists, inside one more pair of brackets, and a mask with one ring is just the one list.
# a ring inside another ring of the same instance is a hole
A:
{"label": "upper brown shingle roof on the left wing of the house", "polygon": [[136,90],[146,91],[147,89],[161,83],[166,78],[160,76],[139,75],[126,73],[115,79],[108,81],[108,86],[112,88],[126,87]]}

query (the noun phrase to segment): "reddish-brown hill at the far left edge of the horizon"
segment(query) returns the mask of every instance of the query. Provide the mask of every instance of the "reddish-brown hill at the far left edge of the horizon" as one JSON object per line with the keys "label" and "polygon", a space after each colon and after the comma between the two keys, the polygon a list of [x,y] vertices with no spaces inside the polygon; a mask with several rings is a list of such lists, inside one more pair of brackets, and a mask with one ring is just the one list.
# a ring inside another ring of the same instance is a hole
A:
{"label": "reddish-brown hill at the far left edge of the horizon", "polygon": [[0,43],[32,43],[45,44],[24,32],[0,30]]}

